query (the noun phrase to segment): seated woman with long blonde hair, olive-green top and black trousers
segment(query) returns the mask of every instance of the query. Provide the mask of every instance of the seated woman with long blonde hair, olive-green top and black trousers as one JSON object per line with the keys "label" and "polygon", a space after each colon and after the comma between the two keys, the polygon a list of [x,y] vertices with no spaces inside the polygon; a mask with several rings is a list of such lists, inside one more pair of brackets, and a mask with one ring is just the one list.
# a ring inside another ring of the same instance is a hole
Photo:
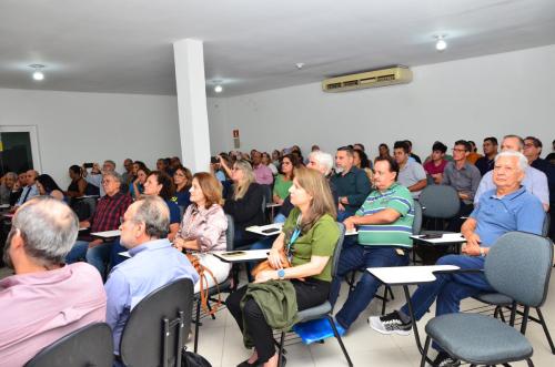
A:
{"label": "seated woman with long blonde hair, olive-green top and black trousers", "polygon": [[[319,172],[299,169],[290,193],[295,208],[269,255],[275,271],[260,272],[254,284],[232,293],[225,302],[243,333],[245,347],[254,347],[240,366],[278,366],[272,323],[266,322],[272,317],[268,315],[283,318],[283,309],[317,306],[330,293],[333,252],[340,235],[330,188]],[[282,251],[291,255],[292,267],[283,268]],[[275,296],[256,296],[266,292]]]}

